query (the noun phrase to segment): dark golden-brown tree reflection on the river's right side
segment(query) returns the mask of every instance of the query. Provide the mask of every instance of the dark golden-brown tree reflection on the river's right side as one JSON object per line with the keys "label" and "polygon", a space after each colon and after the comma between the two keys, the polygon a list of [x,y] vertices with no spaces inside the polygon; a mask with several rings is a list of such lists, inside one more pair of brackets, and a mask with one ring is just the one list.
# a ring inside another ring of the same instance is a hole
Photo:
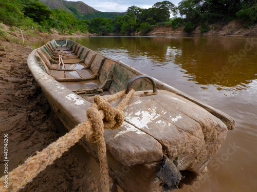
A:
{"label": "dark golden-brown tree reflection on the river's right side", "polygon": [[[251,43],[257,45],[256,41]],[[183,44],[175,63],[197,84],[240,85],[240,89],[255,78],[257,52],[245,39],[191,38],[184,39]]]}

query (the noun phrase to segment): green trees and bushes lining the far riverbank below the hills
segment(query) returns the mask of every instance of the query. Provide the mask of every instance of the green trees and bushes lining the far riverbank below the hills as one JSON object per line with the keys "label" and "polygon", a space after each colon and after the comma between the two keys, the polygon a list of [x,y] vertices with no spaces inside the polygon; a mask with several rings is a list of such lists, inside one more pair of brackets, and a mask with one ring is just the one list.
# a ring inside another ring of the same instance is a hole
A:
{"label": "green trees and bushes lining the far riverbank below the hills", "polygon": [[[35,30],[45,33],[57,30],[61,34],[89,32],[99,35],[144,35],[153,27],[161,25],[171,26],[172,29],[183,27],[183,31],[188,33],[201,26],[201,33],[205,33],[210,30],[211,25],[227,23],[233,19],[241,20],[244,27],[257,22],[256,0],[183,0],[178,6],[163,1],[148,9],[128,7],[123,16],[117,15],[115,18],[106,18],[106,15],[105,18],[92,18],[91,14],[91,20],[82,20],[86,17],[79,15],[74,7],[69,9],[72,14],[66,10],[49,9],[39,0],[1,0],[0,22],[30,30],[31,33]],[[101,14],[98,12],[96,15]],[[171,15],[175,17],[170,18]],[[4,33],[0,29],[0,35],[3,36]]]}

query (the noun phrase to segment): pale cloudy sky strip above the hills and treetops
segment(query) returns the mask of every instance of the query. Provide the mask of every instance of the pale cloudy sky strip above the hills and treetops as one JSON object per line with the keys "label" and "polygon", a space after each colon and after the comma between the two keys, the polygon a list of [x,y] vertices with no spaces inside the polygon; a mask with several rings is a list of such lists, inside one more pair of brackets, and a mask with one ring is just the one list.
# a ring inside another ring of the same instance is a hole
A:
{"label": "pale cloudy sky strip above the hills and treetops", "polygon": [[[86,5],[93,7],[94,9],[102,12],[125,12],[128,7],[133,5],[147,9],[152,7],[157,2],[162,2],[164,0],[67,0],[71,2],[84,2]],[[181,0],[170,0],[169,2],[177,5]]]}

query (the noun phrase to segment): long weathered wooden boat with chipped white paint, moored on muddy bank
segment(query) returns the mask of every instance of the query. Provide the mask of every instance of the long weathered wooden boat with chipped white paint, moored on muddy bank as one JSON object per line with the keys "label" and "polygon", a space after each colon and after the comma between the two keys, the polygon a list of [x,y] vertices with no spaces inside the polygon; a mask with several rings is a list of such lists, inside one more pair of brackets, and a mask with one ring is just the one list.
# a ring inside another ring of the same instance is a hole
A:
{"label": "long weathered wooden boat with chipped white paint, moored on muddy bank", "polygon": [[[67,130],[87,119],[92,95],[136,90],[123,125],[104,131],[111,177],[124,191],[192,184],[235,126],[227,114],[69,39],[33,50],[28,66]],[[96,144],[80,144],[97,160]]]}

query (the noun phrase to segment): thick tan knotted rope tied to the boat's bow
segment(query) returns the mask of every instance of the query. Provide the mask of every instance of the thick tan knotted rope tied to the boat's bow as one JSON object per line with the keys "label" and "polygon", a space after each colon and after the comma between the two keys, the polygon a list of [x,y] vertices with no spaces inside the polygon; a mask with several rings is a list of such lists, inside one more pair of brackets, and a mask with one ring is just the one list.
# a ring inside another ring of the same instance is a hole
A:
{"label": "thick tan knotted rope tied to the boat's bow", "polygon": [[96,95],[95,102],[87,109],[88,120],[78,124],[69,133],[48,145],[42,152],[37,152],[35,156],[29,157],[22,165],[13,169],[8,175],[8,188],[4,187],[5,176],[1,177],[0,191],[18,191],[23,188],[48,165],[52,164],[54,160],[60,158],[84,135],[86,135],[86,139],[89,142],[97,143],[101,172],[101,191],[109,191],[108,163],[103,130],[118,129],[122,125],[124,120],[122,110],[135,91],[132,89],[116,108],[112,108],[109,102],[115,101],[123,96],[125,92],[123,90],[105,98]]}

